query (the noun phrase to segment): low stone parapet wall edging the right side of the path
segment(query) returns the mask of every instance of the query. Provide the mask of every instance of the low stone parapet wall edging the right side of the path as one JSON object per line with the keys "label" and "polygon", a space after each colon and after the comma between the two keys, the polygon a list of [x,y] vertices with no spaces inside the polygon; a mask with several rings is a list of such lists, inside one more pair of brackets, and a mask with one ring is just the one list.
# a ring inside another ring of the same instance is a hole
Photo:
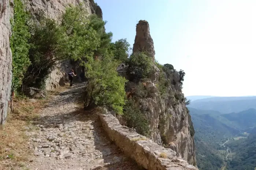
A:
{"label": "low stone parapet wall edging the right side of the path", "polygon": [[[107,111],[105,111],[108,113]],[[120,125],[110,113],[99,115],[109,138],[130,158],[147,170],[198,170],[178,158],[175,151],[164,148],[130,128]]]}

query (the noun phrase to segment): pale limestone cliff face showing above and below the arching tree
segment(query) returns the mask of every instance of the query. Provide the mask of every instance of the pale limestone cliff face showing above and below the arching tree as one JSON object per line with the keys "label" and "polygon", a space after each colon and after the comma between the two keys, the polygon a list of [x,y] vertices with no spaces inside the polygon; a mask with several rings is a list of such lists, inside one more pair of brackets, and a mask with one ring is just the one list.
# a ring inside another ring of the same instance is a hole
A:
{"label": "pale limestone cliff face showing above and below the arching tree", "polygon": [[[40,11],[44,11],[48,17],[58,20],[69,4],[78,5],[79,3],[86,8],[88,15],[96,14],[102,18],[101,8],[93,0],[24,0],[23,3],[26,10],[30,11],[34,18],[36,18]],[[46,80],[46,90],[54,90],[58,86],[64,85],[68,80],[67,73],[70,69],[74,69],[75,73],[79,75],[82,68],[75,62],[71,63],[71,61],[65,61],[56,65]]]}

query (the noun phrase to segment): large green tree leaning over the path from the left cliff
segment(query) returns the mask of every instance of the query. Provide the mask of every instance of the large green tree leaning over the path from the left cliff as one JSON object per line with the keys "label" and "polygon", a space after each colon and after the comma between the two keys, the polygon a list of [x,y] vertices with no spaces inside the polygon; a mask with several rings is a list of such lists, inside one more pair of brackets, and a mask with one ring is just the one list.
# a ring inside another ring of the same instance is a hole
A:
{"label": "large green tree leaning over the path from the left cliff", "polygon": [[105,23],[95,16],[87,17],[81,5],[67,7],[60,20],[58,24],[41,14],[38,23],[30,24],[32,64],[25,86],[41,88],[53,66],[68,59],[92,61],[94,50],[102,45],[99,34]]}

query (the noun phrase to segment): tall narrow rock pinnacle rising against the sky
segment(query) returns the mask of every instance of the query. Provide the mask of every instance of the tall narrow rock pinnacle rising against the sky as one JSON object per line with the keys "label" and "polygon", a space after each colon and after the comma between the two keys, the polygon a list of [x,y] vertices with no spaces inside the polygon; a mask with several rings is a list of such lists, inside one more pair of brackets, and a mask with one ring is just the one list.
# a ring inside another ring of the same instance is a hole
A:
{"label": "tall narrow rock pinnacle rising against the sky", "polygon": [[146,51],[149,57],[155,59],[153,39],[149,32],[149,24],[145,20],[140,20],[136,26],[136,36],[133,44],[133,53]]}

